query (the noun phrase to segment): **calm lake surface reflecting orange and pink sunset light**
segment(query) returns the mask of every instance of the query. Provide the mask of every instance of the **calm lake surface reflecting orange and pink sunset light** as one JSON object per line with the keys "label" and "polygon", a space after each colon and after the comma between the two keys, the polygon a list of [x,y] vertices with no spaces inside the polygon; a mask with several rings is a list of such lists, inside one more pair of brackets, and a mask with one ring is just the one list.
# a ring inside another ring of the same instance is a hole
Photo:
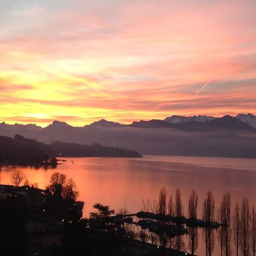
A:
{"label": "calm lake surface reflecting orange and pink sunset light", "polygon": [[[199,195],[198,217],[201,217],[203,200],[209,189],[213,191],[216,212],[225,192],[230,192],[232,205],[247,197],[250,205],[256,206],[256,159],[187,156],[67,158],[67,162],[55,169],[2,167],[2,184],[10,184],[11,172],[15,168],[22,169],[27,179],[31,183],[37,182],[41,188],[47,186],[53,172],[72,177],[79,188],[79,200],[85,203],[85,217],[89,216],[94,203],[110,205],[115,210],[125,208],[126,204],[126,209],[136,213],[142,209],[142,199],[149,199],[150,203],[158,200],[163,186],[173,196],[176,188],[181,189],[185,214],[191,190],[196,189]],[[199,246],[196,252],[204,255],[204,247]],[[216,239],[214,255],[218,254]]]}

